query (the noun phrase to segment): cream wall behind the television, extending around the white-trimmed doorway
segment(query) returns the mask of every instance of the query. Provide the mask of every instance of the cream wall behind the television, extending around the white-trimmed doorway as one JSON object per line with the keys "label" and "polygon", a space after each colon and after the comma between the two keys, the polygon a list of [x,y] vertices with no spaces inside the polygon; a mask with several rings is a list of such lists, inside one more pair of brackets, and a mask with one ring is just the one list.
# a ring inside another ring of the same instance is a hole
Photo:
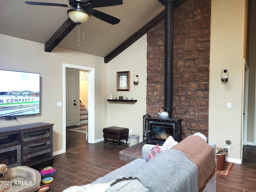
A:
{"label": "cream wall behind the television, extending around the white-trimmed doorway", "polygon": [[[44,52],[44,44],[0,34],[0,69],[37,72],[41,76],[40,115],[18,116],[16,121],[0,118],[0,127],[34,122],[53,123],[53,150],[63,149],[62,101],[63,63],[95,68],[95,139],[102,138],[106,127],[107,65],[104,58],[56,47],[51,53]],[[0,82],[2,83],[2,82]]]}

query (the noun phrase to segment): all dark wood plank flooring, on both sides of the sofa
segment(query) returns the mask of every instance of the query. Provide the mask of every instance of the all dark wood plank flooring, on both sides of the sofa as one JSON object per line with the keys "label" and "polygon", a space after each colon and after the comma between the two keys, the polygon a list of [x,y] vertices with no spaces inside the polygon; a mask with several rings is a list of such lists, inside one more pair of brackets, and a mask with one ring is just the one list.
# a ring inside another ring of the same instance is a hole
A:
{"label": "all dark wood plank flooring, on both sides of the sofa", "polygon": [[[62,192],[72,185],[89,184],[127,164],[119,160],[119,151],[128,144],[108,140],[88,144],[86,134],[67,131],[66,153],[54,156],[54,181],[48,192]],[[216,192],[256,192],[256,146],[244,146],[242,164],[234,164],[229,177],[217,175]],[[45,167],[45,166],[44,166]],[[38,171],[42,170],[40,167]]]}

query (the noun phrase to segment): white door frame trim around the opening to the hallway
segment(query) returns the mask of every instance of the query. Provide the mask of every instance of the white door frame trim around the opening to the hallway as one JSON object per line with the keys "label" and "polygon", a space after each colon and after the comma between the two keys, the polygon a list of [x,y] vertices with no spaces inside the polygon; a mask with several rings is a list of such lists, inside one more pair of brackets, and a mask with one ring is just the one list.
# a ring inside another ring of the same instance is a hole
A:
{"label": "white door frame trim around the opening to the hallway", "polygon": [[88,143],[95,143],[95,69],[85,66],[63,64],[63,149],[66,152],[66,68],[88,71]]}

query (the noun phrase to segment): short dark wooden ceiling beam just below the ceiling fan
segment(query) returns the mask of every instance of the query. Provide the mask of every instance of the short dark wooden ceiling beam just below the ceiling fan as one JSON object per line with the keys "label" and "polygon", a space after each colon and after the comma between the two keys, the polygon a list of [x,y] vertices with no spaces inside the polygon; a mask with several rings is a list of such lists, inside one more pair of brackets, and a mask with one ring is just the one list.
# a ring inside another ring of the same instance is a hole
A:
{"label": "short dark wooden ceiling beam just below the ceiling fan", "polygon": [[76,23],[69,23],[66,20],[60,28],[44,44],[44,51],[51,52],[68,34],[75,28]]}

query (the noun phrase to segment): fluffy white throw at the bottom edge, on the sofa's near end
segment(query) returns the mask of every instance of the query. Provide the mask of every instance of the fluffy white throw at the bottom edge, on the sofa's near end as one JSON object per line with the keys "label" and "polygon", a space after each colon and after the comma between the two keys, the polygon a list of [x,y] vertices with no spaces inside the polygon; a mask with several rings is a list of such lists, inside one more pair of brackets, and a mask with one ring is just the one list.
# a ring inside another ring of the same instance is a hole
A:
{"label": "fluffy white throw at the bottom edge, on the sofa's near end", "polygon": [[[112,182],[111,182],[112,183]],[[71,186],[63,192],[105,192],[111,183],[87,184],[82,186]]]}

